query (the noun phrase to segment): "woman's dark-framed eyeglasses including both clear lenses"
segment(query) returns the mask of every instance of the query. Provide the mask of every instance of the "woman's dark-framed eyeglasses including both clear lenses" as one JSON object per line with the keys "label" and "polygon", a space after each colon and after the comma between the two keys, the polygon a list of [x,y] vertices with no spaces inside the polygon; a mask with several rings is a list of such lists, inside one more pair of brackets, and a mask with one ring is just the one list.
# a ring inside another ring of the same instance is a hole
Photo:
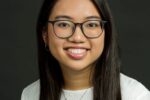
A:
{"label": "woman's dark-framed eyeglasses including both clear lenses", "polygon": [[88,20],[83,23],[74,23],[70,20],[55,20],[48,21],[53,25],[54,33],[57,37],[66,39],[71,37],[77,25],[80,26],[80,29],[85,37],[87,38],[98,38],[104,31],[104,25],[107,21],[104,20]]}

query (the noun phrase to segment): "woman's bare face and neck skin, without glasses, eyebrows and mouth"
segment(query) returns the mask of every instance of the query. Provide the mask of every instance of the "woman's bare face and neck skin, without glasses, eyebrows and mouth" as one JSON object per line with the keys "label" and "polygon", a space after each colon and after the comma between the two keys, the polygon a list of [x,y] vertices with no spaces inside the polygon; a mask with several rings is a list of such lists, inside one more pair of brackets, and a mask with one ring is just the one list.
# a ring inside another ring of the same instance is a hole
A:
{"label": "woman's bare face and neck skin, without glasses, eyebrows and mouth", "polygon": [[[49,20],[56,20],[57,16],[69,16],[67,19],[73,22],[84,22],[89,16],[97,16],[100,14],[96,10],[94,4],[90,0],[59,0],[54,6]],[[96,18],[90,18],[90,20]],[[60,39],[55,36],[52,24],[48,25],[48,30],[43,32],[43,40],[49,47],[49,51],[57,59],[63,72],[65,86],[64,89],[79,90],[92,86],[90,73],[92,67],[98,57],[101,56],[104,48],[105,32],[98,38],[86,38],[80,27],[77,27],[73,36],[68,39]],[[64,48],[70,46],[81,46],[89,48],[86,56],[82,59],[72,59],[66,53]]]}

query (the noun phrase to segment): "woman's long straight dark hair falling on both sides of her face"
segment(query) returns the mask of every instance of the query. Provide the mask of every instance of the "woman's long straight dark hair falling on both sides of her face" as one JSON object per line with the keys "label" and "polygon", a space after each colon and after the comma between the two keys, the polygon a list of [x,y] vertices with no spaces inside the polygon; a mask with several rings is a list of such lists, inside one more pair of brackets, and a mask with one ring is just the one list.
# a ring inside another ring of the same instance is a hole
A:
{"label": "woman's long straight dark hair falling on both sides of her face", "polygon": [[[64,85],[58,61],[45,48],[42,38],[43,31],[47,31],[47,21],[56,2],[57,0],[44,0],[37,22],[40,100],[60,100]],[[91,2],[102,19],[107,20],[104,50],[96,61],[92,76],[93,100],[121,100],[119,48],[112,16],[106,0],[91,0]]]}

